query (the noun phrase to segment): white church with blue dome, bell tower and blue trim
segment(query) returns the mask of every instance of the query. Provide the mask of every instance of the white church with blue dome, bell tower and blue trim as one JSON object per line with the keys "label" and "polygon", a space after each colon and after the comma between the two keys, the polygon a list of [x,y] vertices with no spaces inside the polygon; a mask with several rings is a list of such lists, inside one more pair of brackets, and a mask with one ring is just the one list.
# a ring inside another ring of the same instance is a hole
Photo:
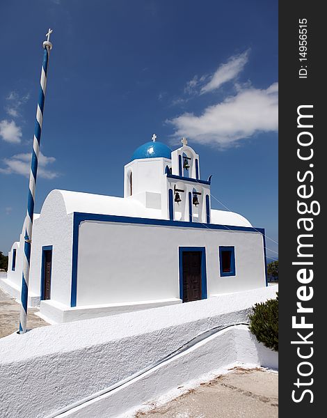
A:
{"label": "white church with blue dome, bell tower and blue trim", "polygon": [[[34,215],[29,306],[63,323],[266,286],[264,229],[211,208],[199,155],[152,141],[125,165],[124,197],[52,190]],[[23,226],[22,231],[25,228]],[[24,233],[1,287],[20,300]]]}

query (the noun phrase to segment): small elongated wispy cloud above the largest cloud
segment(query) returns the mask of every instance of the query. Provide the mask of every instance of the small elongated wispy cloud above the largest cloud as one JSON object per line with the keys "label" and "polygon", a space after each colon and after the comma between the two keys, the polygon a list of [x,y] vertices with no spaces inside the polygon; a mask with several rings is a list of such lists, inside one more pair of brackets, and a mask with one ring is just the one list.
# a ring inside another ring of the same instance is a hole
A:
{"label": "small elongated wispy cloud above the largest cloud", "polygon": [[231,56],[227,63],[221,64],[210,81],[201,88],[200,94],[216,90],[222,84],[236,78],[248,62],[248,53],[249,50],[243,52],[243,54]]}

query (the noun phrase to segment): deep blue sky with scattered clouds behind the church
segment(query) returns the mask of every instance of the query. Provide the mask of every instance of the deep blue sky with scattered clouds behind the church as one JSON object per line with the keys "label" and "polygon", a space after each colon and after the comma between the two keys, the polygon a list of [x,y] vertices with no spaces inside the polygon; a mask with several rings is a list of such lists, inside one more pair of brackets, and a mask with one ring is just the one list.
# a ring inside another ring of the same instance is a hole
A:
{"label": "deep blue sky with scattered clouds behind the church", "polygon": [[186,136],[213,174],[212,207],[265,228],[277,258],[276,0],[1,2],[0,251],[26,212],[49,27],[35,212],[51,189],[122,196],[135,148]]}

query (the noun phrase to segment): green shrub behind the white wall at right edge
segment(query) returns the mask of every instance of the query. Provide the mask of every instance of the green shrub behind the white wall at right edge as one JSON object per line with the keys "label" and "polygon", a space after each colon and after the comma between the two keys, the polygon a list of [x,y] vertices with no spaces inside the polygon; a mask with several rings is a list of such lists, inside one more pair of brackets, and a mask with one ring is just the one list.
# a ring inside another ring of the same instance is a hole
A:
{"label": "green shrub behind the white wall at right edge", "polygon": [[278,351],[278,293],[276,299],[256,303],[250,318],[250,331],[257,341]]}

